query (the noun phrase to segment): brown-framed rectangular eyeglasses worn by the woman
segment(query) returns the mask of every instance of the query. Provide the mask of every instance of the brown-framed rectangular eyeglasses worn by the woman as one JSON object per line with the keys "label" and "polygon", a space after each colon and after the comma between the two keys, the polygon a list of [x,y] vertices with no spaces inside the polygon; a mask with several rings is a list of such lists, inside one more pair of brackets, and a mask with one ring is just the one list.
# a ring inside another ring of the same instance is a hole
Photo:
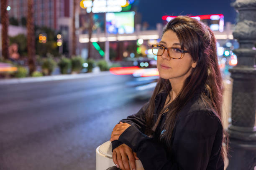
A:
{"label": "brown-framed rectangular eyeglasses worn by the woman", "polygon": [[188,53],[186,50],[182,50],[176,47],[164,47],[164,45],[152,45],[152,52],[154,55],[161,56],[164,54],[164,50],[167,50],[167,53],[170,58],[173,59],[182,59],[184,53]]}

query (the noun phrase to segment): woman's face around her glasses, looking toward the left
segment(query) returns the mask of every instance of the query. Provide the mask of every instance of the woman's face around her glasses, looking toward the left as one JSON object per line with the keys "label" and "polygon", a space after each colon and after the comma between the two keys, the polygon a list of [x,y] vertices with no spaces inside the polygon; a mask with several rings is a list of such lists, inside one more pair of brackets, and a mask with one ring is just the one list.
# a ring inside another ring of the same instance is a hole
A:
{"label": "woman's face around her glasses, looking toward the left", "polygon": [[[181,49],[179,39],[175,32],[167,30],[159,45],[164,47],[176,47]],[[184,49],[187,50],[187,49]],[[157,69],[159,76],[163,79],[181,79],[185,80],[191,73],[192,67],[195,68],[196,62],[192,60],[189,53],[184,53],[181,59],[170,58],[167,50],[164,50],[163,55],[157,56]]]}

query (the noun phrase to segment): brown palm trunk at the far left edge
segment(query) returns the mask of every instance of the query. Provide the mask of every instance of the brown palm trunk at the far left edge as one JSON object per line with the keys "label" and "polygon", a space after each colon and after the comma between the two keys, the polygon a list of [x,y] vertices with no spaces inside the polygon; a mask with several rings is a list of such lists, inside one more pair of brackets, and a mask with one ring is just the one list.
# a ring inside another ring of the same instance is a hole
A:
{"label": "brown palm trunk at the far left edge", "polygon": [[9,59],[9,38],[8,38],[8,26],[9,18],[8,11],[6,10],[8,0],[1,0],[1,23],[2,23],[2,55],[5,60]]}

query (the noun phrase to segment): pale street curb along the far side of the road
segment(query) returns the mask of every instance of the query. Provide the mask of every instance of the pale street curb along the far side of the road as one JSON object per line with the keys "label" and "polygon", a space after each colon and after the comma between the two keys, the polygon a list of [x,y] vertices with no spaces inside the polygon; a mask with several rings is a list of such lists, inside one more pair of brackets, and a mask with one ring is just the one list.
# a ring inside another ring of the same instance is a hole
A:
{"label": "pale street curb along the far side of the road", "polygon": [[12,78],[12,79],[3,79],[0,80],[0,85],[10,85],[10,84],[19,84],[19,83],[28,83],[28,82],[45,82],[45,81],[55,81],[55,80],[71,80],[71,79],[80,79],[88,77],[97,77],[111,75],[109,71],[102,72],[89,72],[82,74],[71,74],[71,75],[50,75],[42,77],[25,77],[25,78]]}

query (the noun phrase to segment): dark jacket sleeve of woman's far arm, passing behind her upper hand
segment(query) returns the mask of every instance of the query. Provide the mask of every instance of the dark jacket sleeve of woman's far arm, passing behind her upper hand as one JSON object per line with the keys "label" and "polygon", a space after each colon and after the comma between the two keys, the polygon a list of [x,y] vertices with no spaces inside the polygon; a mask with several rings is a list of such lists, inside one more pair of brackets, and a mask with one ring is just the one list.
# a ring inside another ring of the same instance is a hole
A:
{"label": "dark jacket sleeve of woman's far arm, passing behind her upper hand", "polygon": [[[146,102],[136,114],[128,116],[126,119],[122,119],[120,121],[135,126],[138,130],[140,130],[143,133],[146,128],[145,112],[146,109],[148,108],[148,103],[149,102]],[[123,143],[118,140],[112,141],[112,151],[121,144]]]}

